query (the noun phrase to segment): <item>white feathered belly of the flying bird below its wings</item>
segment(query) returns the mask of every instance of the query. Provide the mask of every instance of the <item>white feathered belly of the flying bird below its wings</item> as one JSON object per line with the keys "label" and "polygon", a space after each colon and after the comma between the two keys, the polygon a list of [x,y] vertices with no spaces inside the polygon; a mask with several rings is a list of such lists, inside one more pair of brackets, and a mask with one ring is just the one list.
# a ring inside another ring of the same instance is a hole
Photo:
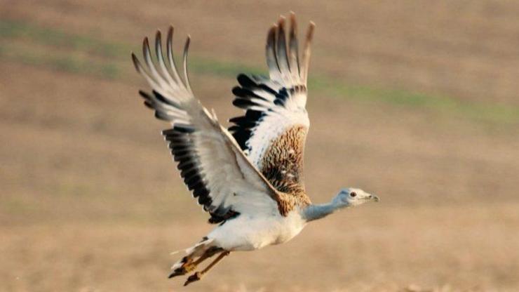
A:
{"label": "white feathered belly of the flying bird below its wings", "polygon": [[298,212],[272,218],[240,215],[208,234],[227,251],[252,251],[272,244],[282,244],[295,237],[305,225]]}

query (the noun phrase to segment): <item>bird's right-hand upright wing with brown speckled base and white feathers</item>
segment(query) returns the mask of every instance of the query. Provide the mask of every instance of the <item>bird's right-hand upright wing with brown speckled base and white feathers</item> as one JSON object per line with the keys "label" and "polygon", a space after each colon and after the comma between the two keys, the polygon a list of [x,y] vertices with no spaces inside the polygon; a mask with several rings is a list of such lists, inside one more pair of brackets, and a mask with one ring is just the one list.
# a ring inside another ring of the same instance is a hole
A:
{"label": "bird's right-hand upright wing with brown speckled base and white feathers", "polygon": [[310,22],[299,62],[295,15],[285,36],[285,19],[269,29],[267,65],[269,79],[238,75],[233,104],[245,110],[230,119],[229,127],[238,145],[263,175],[281,192],[304,192],[303,152],[309,128],[306,105],[306,77],[314,23]]}

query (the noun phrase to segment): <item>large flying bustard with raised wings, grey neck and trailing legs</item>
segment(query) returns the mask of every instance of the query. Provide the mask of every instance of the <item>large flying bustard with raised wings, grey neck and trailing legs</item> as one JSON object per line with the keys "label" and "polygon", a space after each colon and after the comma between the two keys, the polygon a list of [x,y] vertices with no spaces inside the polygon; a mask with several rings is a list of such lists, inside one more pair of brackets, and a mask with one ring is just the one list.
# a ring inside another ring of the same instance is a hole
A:
{"label": "large flying bustard with raised wings, grey neck and trailing legs", "polygon": [[[288,23],[289,22],[289,23]],[[155,117],[170,124],[162,131],[184,184],[216,227],[187,248],[169,277],[190,274],[184,286],[202,279],[222,258],[235,251],[255,251],[282,244],[303,227],[335,211],[379,198],[346,187],[325,204],[306,194],[303,154],[309,117],[307,77],[314,22],[309,22],[299,54],[295,13],[283,15],[268,30],[265,46],[268,77],[238,74],[233,105],[243,115],[220,124],[191,90],[187,72],[190,36],[184,43],[182,67],[173,54],[173,26],[166,52],[161,31],[154,56],[148,38],[142,43],[144,65],[132,53],[138,73],[151,91],[139,91]],[[205,260],[215,257],[204,269]],[[195,270],[197,270],[195,272]]]}

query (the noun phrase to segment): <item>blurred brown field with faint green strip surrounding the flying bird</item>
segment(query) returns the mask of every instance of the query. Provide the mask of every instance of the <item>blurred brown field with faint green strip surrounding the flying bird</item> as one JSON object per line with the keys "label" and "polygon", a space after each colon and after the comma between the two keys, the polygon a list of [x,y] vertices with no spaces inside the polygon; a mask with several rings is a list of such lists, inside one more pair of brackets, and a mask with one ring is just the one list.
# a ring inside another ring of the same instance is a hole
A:
{"label": "blurred brown field with faint green strip surrounding the flying bird", "polygon": [[0,290],[180,290],[169,253],[212,226],[130,51],[191,34],[191,84],[226,122],[288,11],[317,25],[307,191],[382,200],[182,289],[518,291],[519,2],[491,0],[0,0]]}

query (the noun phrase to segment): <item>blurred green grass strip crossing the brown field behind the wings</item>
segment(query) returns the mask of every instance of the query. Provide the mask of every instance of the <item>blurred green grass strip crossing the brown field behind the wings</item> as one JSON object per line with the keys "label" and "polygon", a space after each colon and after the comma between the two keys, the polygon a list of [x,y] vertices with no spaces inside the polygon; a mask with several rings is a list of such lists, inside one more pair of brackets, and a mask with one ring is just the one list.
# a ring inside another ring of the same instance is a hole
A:
{"label": "blurred green grass strip crossing the brown field behind the wings", "polygon": [[[134,78],[130,77],[133,66],[130,64],[129,53],[132,49],[137,49],[138,44],[130,46],[116,41],[105,41],[93,36],[40,27],[21,20],[0,20],[0,39],[15,41],[15,44],[6,44],[6,41],[0,44],[0,58],[105,79],[128,81]],[[39,48],[22,46],[19,41],[36,44]],[[41,46],[46,47],[46,50]],[[57,48],[61,51],[65,48],[67,53],[55,53]],[[81,58],[81,55],[86,55],[87,58]],[[190,58],[189,69],[196,74],[223,78],[234,78],[240,72],[267,73],[266,69],[219,62],[210,58]],[[516,105],[498,105],[492,102],[460,100],[447,95],[344,84],[342,80],[325,74],[311,75],[309,87],[312,91],[353,102],[382,102],[398,107],[460,115],[492,124],[519,124],[519,107]]]}

